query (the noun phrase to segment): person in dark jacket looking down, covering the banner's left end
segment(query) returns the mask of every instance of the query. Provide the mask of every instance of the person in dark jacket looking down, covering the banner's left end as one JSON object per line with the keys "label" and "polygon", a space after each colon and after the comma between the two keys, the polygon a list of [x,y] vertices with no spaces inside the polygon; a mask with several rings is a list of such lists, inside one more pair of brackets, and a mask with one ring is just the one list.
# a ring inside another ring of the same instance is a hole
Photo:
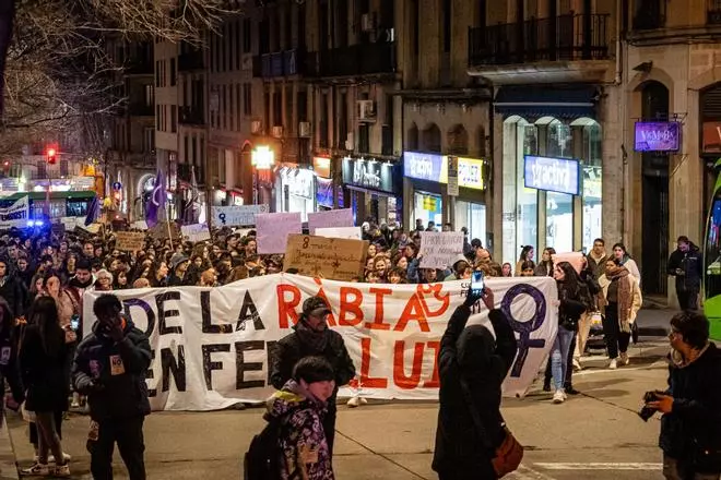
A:
{"label": "person in dark jacket looking down, covering the banner's left end", "polygon": [[116,442],[130,480],[145,480],[143,422],[151,412],[145,372],[152,353],[145,334],[121,311],[114,295],[95,300],[97,322],[78,346],[73,362],[73,385],[90,404],[87,446],[95,480],[113,479]]}

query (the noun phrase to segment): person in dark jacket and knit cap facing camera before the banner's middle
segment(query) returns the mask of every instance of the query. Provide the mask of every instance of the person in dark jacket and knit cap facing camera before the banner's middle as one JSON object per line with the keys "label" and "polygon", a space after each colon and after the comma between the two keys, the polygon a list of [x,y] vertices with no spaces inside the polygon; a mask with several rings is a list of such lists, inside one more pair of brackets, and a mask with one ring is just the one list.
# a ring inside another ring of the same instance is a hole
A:
{"label": "person in dark jacket and knit cap facing camera before the banner's middle", "polygon": [[328,447],[333,454],[335,439],[335,416],[338,408],[335,399],[339,387],[346,385],[355,376],[355,365],[348,355],[343,337],[338,332],[328,328],[327,319],[330,307],[320,297],[310,297],[303,302],[303,313],[293,327],[294,333],[276,344],[271,360],[271,384],[276,389],[293,377],[293,368],[305,357],[323,357],[335,372],[335,388],[328,399],[328,413],[323,418],[323,429]]}

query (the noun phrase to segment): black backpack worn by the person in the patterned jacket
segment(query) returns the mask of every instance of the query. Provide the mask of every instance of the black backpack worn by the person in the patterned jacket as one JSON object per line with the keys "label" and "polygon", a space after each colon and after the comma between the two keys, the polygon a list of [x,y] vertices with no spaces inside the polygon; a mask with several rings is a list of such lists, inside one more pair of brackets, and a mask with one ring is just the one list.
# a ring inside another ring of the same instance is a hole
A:
{"label": "black backpack worn by the person in the patterned jacket", "polygon": [[244,480],[280,480],[281,433],[291,415],[265,417],[268,424],[252,437],[244,457]]}

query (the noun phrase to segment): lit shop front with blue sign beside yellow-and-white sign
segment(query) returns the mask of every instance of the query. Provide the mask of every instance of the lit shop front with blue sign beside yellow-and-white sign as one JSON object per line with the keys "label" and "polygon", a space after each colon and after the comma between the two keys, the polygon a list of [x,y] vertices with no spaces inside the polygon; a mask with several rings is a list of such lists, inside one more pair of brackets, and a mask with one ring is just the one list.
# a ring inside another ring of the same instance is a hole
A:
{"label": "lit shop front with blue sign beside yellow-and-white sign", "polygon": [[458,195],[448,195],[448,155],[405,152],[403,172],[411,182],[413,204],[410,227],[417,219],[424,226],[433,221],[440,230],[444,224],[451,224],[458,231],[469,229],[471,239],[488,243],[486,229],[485,190],[488,165],[481,158],[458,158]]}

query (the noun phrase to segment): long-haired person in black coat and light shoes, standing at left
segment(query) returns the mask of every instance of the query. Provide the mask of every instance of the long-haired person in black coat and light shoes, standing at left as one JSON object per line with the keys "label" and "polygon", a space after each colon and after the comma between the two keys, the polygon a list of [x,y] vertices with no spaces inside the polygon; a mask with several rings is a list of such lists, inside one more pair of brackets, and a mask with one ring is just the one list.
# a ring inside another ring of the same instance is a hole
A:
{"label": "long-haired person in black coat and light shoes, standing at left", "polygon": [[38,433],[37,463],[23,470],[25,475],[48,476],[48,455],[56,466],[52,475],[70,477],[56,430],[56,412],[68,408],[70,395],[66,374],[66,332],[58,321],[58,308],[51,297],[40,297],[33,305],[32,317],[20,343],[20,369],[27,388],[25,409],[35,412]]}

